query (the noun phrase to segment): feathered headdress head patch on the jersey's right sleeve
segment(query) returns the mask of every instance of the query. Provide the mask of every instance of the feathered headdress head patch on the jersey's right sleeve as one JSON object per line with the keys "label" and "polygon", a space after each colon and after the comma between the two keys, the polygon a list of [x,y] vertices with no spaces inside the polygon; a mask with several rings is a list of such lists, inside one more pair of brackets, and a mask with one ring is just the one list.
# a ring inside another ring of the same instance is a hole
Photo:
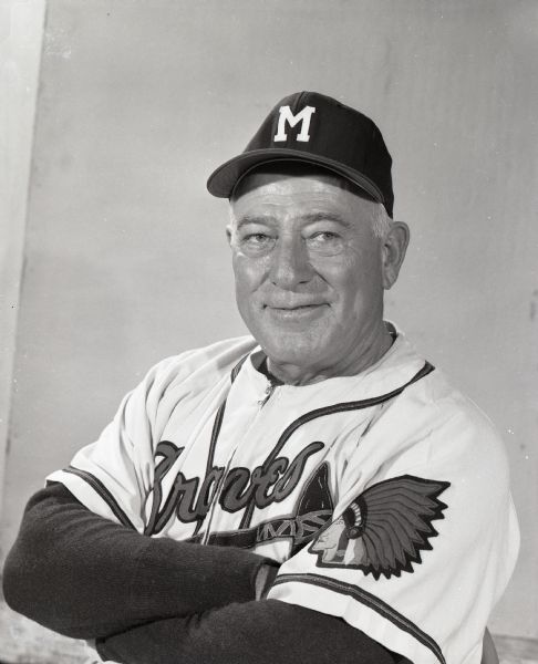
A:
{"label": "feathered headdress head patch on the jersey's right sleeve", "polygon": [[318,535],[309,548],[315,564],[360,569],[375,580],[413,572],[421,551],[433,548],[432,521],[443,519],[446,509],[438,496],[449,486],[412,475],[373,485]]}

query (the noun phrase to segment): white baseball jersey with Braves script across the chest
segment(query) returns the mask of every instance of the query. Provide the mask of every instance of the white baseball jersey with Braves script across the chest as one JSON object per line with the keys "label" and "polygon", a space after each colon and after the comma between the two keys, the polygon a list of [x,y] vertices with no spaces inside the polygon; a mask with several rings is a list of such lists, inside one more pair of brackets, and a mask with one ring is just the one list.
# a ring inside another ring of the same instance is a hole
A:
{"label": "white baseball jersey with Braves script across the chest", "polygon": [[414,664],[478,664],[518,550],[503,444],[399,334],[363,373],[275,386],[251,338],[167,359],[48,479],[149,537],[281,563],[269,598]]}

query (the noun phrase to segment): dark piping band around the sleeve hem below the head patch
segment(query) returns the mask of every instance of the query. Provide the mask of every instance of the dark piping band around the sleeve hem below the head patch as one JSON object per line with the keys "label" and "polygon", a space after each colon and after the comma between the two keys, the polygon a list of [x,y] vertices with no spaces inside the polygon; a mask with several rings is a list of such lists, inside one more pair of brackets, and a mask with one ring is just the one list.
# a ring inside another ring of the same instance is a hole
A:
{"label": "dark piping band around the sleeve hem below the head patch", "polygon": [[320,574],[281,574],[277,577],[272,585],[275,587],[289,582],[309,583],[310,585],[318,585],[320,588],[324,588],[327,590],[352,598],[356,602],[364,604],[369,609],[372,609],[379,613],[382,618],[392,622],[392,624],[400,630],[414,636],[422,645],[432,651],[441,664],[446,664],[441,647],[431,636],[428,636],[408,619],[395,611],[392,606],[385,604],[385,602],[375,595],[370,594],[362,588],[358,588],[351,583],[344,583],[343,581],[338,581],[337,579],[328,579],[327,577],[322,577]]}

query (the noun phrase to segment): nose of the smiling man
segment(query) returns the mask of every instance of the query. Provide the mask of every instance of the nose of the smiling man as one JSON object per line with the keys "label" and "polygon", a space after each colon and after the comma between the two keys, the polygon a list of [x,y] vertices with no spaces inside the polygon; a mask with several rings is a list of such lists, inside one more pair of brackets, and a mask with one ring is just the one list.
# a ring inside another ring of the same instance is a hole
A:
{"label": "nose of the smiling man", "polygon": [[275,286],[292,290],[307,283],[313,274],[310,257],[303,239],[281,236],[271,252],[270,280]]}

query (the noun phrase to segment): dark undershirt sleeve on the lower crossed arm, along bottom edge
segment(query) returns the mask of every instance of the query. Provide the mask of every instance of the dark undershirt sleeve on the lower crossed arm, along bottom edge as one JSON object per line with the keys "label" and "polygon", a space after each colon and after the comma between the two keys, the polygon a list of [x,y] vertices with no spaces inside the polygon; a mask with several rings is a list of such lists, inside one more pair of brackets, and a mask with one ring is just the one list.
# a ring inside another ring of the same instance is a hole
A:
{"label": "dark undershirt sleeve on the lower crossed arm, along bottom edge", "polygon": [[[188,619],[168,619],[97,642],[121,664],[395,664],[385,650],[343,620],[261,600]],[[407,663],[410,664],[410,663]]]}

